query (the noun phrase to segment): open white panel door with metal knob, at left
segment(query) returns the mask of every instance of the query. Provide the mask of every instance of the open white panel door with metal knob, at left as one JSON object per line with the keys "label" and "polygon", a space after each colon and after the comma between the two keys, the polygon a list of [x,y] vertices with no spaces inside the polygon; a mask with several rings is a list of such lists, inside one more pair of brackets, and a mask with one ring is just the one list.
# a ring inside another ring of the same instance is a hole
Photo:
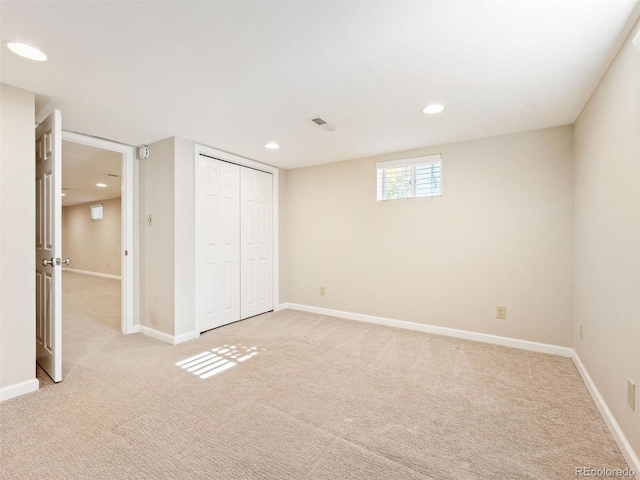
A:
{"label": "open white panel door with metal knob, at left", "polygon": [[36,128],[36,359],[62,380],[62,116]]}

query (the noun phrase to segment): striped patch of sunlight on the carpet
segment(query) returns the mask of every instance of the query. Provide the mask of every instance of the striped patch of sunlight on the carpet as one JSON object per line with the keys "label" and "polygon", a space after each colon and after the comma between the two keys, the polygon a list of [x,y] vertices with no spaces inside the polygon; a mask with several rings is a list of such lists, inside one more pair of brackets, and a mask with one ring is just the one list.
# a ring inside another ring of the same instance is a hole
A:
{"label": "striped patch of sunlight on the carpet", "polygon": [[180,360],[176,363],[176,366],[205,379],[224,372],[256,355],[258,355],[258,347],[256,346],[223,345],[222,347],[212,348],[208,352],[202,352],[193,357]]}

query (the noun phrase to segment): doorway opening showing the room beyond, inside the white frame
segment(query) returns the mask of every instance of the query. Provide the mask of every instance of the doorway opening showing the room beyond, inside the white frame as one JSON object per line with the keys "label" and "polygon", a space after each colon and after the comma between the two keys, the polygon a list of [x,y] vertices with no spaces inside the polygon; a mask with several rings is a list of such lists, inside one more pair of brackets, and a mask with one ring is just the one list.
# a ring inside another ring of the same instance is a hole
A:
{"label": "doorway opening showing the room beyond, inside the white frame", "polygon": [[123,329],[123,157],[112,150],[62,141],[62,258],[70,259],[62,268],[67,339],[81,338],[92,327]]}

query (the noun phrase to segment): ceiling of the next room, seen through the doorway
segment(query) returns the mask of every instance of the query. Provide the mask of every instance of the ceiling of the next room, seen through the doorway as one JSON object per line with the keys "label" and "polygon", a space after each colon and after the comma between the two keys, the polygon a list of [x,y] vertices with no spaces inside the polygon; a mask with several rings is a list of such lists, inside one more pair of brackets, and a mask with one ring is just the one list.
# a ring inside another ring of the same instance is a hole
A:
{"label": "ceiling of the next room, seen through the doorway", "polygon": [[[121,196],[122,154],[69,141],[62,142],[62,206]],[[97,187],[104,183],[106,187]]]}

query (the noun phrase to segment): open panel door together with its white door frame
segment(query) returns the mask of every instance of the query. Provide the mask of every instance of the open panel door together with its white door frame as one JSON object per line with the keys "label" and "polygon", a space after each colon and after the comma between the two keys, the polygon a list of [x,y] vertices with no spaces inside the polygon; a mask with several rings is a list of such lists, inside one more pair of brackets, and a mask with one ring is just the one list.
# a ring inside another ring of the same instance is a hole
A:
{"label": "open panel door together with its white door frame", "polygon": [[[62,190],[62,143],[68,141],[80,145],[102,148],[118,152],[120,165],[121,191],[121,242],[124,249],[118,253],[121,266],[121,319],[120,331],[133,333],[133,255],[134,253],[134,217],[133,217],[133,152],[132,146],[122,145],[87,135],[63,132],[62,117],[54,110],[35,128],[35,255],[36,255],[36,361],[54,382],[62,380],[62,269],[69,265],[70,259],[62,255],[62,195],[75,191],[82,195],[83,188]],[[105,172],[107,175],[109,172]],[[114,177],[118,174],[114,173]],[[96,187],[107,187],[97,182]],[[90,215],[94,217],[94,208],[102,213],[102,204],[91,205]],[[137,249],[136,249],[137,250]],[[117,259],[116,259],[117,260]]]}

